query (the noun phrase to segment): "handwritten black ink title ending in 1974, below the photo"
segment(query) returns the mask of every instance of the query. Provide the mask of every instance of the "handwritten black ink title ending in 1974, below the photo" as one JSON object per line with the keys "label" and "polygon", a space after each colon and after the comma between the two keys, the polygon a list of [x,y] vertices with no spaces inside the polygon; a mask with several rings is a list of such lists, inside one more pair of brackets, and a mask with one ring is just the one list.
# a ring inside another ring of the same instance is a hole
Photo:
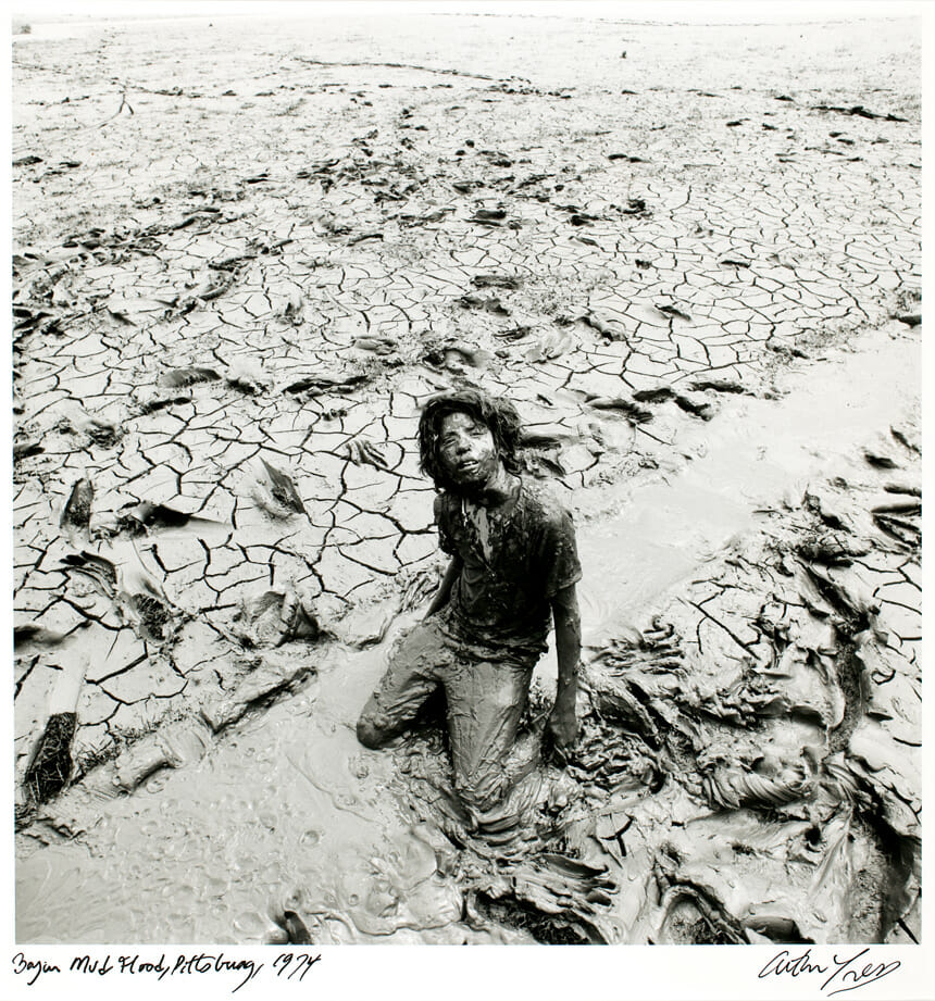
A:
{"label": "handwritten black ink title ending in 1974, below the photo", "polygon": [[[301,983],[306,974],[315,963],[321,962],[321,954],[283,952],[273,961],[272,968],[276,977],[280,979]],[[166,953],[163,952],[158,960],[145,958],[139,953],[119,956],[76,955],[67,964],[65,974],[100,977],[111,974],[116,976],[144,975],[153,976],[157,980],[162,980],[164,977],[197,976],[199,974],[233,975],[237,983],[230,992],[237,993],[241,987],[246,987],[260,976],[264,965],[253,960],[225,955],[223,952],[216,955],[208,952],[190,955],[179,953],[175,956],[166,956]],[[24,952],[17,952],[13,956],[13,973],[24,977],[26,985],[32,987],[43,974],[62,974],[62,967],[45,959],[33,959]]]}

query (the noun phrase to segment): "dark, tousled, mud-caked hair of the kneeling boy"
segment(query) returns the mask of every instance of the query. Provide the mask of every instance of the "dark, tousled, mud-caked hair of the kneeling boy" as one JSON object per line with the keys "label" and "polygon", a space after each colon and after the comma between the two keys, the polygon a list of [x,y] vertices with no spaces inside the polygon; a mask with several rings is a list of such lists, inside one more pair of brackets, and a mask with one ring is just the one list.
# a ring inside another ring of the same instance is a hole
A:
{"label": "dark, tousled, mud-caked hair of the kneeling boy", "polygon": [[422,409],[419,418],[420,467],[429,476],[438,490],[450,490],[454,486],[445,475],[438,456],[438,435],[441,422],[448,414],[464,413],[485,424],[494,438],[494,445],[504,467],[510,473],[520,472],[520,415],[516,408],[503,399],[493,399],[477,389],[461,389],[434,397]]}

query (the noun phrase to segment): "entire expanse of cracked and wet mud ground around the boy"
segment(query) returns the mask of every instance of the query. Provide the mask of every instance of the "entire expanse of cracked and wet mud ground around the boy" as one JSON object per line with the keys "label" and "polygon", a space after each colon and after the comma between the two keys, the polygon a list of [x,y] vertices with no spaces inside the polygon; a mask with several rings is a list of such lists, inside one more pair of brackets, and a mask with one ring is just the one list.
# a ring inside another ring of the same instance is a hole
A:
{"label": "entire expanse of cracked and wet mud ground around the boy", "polygon": [[[14,47],[17,939],[918,939],[914,26],[427,22]],[[585,573],[493,844],[353,735],[464,384]]]}

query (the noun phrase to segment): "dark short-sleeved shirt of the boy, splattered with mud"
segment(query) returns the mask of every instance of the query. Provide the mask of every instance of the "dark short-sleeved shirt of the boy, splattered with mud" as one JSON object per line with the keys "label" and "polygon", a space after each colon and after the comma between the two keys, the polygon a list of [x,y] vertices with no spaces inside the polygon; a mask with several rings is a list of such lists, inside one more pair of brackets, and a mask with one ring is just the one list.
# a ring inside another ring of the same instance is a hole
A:
{"label": "dark short-sleeved shirt of the boy, splattered with mud", "polygon": [[537,659],[551,599],[582,576],[569,511],[545,484],[521,478],[514,497],[494,511],[439,495],[435,523],[441,549],[462,564],[438,613],[449,630],[493,651]]}

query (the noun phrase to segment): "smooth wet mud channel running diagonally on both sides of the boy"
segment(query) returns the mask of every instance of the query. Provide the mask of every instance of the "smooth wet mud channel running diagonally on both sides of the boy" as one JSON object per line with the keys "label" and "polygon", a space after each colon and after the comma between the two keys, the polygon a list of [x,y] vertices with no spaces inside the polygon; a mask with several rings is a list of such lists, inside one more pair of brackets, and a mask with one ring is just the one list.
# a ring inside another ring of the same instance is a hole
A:
{"label": "smooth wet mud channel running diagonally on both sides of the boy", "polygon": [[[778,401],[725,400],[683,439],[693,456],[683,468],[632,486],[613,518],[583,526],[586,641],[639,621],[809,477],[846,473],[913,404],[919,372],[915,339],[876,331],[786,375]],[[282,941],[286,911],[319,942],[482,940],[460,922],[432,833],[386,791],[390,755],[354,738],[385,649],[322,655],[297,645],[297,656],[323,656],[316,677],[200,763],[129,797],[73,791],[71,826],[85,834],[21,861],[17,940]]]}

